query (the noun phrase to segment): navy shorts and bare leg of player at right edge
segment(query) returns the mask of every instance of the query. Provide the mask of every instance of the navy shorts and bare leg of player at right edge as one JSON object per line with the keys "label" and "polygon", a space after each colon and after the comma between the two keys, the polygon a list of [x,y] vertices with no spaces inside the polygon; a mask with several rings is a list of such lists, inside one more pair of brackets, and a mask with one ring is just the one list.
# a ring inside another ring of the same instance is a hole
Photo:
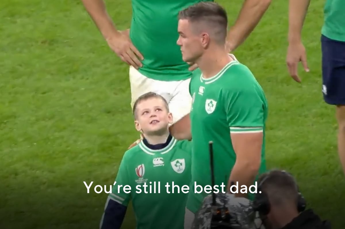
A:
{"label": "navy shorts and bare leg of player at right edge", "polygon": [[321,38],[322,92],[326,103],[336,105],[338,153],[345,173],[345,42]]}

